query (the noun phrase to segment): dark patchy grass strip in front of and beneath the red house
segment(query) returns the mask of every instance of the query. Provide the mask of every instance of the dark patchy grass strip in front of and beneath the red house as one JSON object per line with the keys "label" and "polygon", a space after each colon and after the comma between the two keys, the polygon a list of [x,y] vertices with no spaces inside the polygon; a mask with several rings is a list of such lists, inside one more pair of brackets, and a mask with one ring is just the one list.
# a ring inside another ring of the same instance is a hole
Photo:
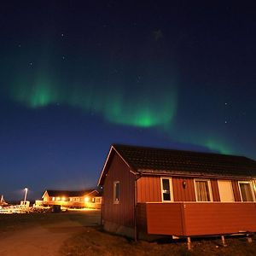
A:
{"label": "dark patchy grass strip in front of and beneath the red house", "polygon": [[87,228],[85,232],[67,240],[61,248],[63,255],[256,255],[256,241],[248,243],[245,237],[226,239],[224,247],[220,237],[207,240],[192,239],[192,250],[187,250],[185,241],[148,242],[132,241],[122,236],[114,236],[97,228]]}

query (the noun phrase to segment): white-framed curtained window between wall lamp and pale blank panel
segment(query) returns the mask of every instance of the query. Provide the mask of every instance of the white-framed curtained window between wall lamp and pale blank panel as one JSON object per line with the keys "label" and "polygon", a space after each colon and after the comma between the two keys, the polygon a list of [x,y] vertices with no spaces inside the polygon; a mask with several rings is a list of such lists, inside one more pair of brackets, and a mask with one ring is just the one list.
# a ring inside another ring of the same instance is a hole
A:
{"label": "white-framed curtained window between wall lamp and pale blank panel", "polygon": [[195,180],[196,201],[212,201],[211,183],[207,179]]}

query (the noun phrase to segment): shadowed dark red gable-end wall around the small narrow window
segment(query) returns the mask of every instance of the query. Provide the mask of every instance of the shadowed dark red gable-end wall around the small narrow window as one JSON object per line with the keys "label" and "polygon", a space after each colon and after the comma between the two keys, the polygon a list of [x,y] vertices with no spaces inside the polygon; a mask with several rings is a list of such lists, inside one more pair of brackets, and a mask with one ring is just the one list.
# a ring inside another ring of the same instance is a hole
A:
{"label": "shadowed dark red gable-end wall around the small narrow window", "polygon": [[[119,203],[113,203],[113,182],[119,181]],[[110,223],[125,227],[134,226],[135,175],[114,153],[103,187],[102,218]]]}

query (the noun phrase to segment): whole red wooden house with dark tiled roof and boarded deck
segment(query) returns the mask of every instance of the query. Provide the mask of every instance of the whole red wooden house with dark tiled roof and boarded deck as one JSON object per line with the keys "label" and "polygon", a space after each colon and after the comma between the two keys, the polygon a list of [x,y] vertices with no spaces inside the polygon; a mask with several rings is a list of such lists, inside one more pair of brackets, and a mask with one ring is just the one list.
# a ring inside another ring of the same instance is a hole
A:
{"label": "whole red wooden house with dark tiled roof and boarded deck", "polygon": [[256,231],[256,161],[113,145],[98,185],[104,229],[125,236]]}

